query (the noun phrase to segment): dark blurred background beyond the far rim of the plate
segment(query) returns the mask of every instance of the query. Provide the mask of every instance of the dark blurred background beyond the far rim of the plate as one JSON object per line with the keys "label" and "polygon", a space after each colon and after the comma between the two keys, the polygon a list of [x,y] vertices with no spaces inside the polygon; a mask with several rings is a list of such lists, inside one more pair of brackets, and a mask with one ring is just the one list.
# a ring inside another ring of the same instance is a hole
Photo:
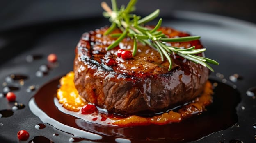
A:
{"label": "dark blurred background beyond the far rim of the plate", "polygon": [[[0,31],[59,20],[72,20],[101,15],[103,0],[1,0]],[[105,0],[110,4],[110,0]],[[128,0],[117,0],[126,4]],[[255,0],[138,0],[138,14],[160,9],[168,16],[176,10],[198,11],[238,18],[256,23]]]}

